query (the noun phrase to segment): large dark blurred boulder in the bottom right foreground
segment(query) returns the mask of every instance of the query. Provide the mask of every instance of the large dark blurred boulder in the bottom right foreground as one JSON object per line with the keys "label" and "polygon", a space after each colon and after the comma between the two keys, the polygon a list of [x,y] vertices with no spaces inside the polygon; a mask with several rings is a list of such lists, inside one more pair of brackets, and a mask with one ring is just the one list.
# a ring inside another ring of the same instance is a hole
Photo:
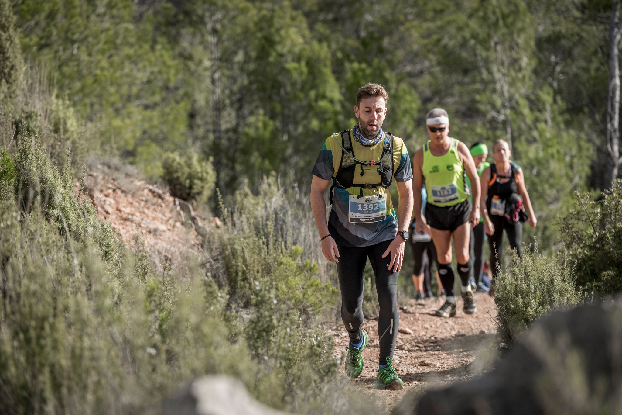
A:
{"label": "large dark blurred boulder in the bottom right foreground", "polygon": [[[397,413],[603,414],[622,408],[622,300],[544,317],[485,375],[406,396]],[[409,403],[410,402],[410,403]],[[618,412],[616,412],[618,411]]]}

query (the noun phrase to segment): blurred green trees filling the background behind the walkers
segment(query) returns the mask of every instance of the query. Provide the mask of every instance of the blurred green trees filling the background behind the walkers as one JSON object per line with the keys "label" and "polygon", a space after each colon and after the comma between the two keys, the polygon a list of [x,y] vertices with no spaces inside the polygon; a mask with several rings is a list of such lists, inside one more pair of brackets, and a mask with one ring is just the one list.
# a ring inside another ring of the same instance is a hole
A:
{"label": "blurred green trees filling the background behind the walkers", "polygon": [[[49,90],[72,117],[45,144],[61,159],[53,147],[71,146],[75,166],[83,147],[156,180],[167,157],[193,154],[226,200],[272,172],[307,189],[323,139],[353,126],[356,90],[378,82],[385,128],[411,154],[434,106],[467,144],[511,143],[540,218],[524,240],[541,250],[575,190],[608,185],[610,1],[3,2],[21,45],[7,81]],[[36,106],[18,99],[15,118],[54,116]]]}

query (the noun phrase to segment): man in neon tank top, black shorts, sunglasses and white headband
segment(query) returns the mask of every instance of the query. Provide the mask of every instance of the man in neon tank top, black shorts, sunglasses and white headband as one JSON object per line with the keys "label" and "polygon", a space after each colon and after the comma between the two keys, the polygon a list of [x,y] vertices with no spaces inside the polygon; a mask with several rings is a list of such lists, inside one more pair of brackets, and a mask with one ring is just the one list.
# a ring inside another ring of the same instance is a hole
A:
{"label": "man in neon tank top, black shorts, sunglasses and white headband", "polygon": [[[436,315],[452,317],[456,314],[453,295],[455,276],[452,267],[453,248],[462,282],[463,310],[473,314],[477,308],[468,283],[471,264],[469,238],[471,228],[480,223],[480,208],[471,206],[469,194],[480,200],[480,183],[473,157],[463,142],[449,136],[449,117],[442,108],[434,108],[425,117],[430,140],[415,153],[412,161],[414,212],[417,215],[415,232],[423,234],[425,224],[430,226],[439,261],[440,281],[447,295]],[[466,176],[471,188],[466,185]],[[425,217],[421,213],[421,188],[427,189]]]}

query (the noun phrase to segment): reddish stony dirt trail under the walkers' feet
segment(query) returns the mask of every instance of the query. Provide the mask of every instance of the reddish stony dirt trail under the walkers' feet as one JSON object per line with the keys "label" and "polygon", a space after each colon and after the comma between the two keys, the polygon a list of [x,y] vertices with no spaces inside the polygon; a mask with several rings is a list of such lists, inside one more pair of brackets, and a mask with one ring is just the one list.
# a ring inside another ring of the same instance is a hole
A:
{"label": "reddish stony dirt trail under the walkers' feet", "polygon": [[[434,315],[444,299],[411,300],[408,305],[400,307],[400,329],[412,330],[412,334],[398,333],[393,359],[397,374],[404,381],[402,391],[373,388],[378,370],[377,322],[364,320],[363,328],[369,332],[369,343],[363,352],[365,367],[361,376],[352,381],[353,384],[361,393],[384,401],[391,409],[411,389],[427,389],[439,383],[472,377],[481,365],[486,365],[485,357],[494,353],[490,350],[494,349],[496,337],[493,298],[488,294],[475,294],[475,299],[478,310],[467,315],[462,312],[462,299],[457,298],[458,312],[450,319]],[[331,333],[335,338],[335,357],[343,362],[348,345],[347,333],[341,324],[335,325]],[[471,364],[480,351],[478,364]],[[341,372],[345,376],[343,363]]]}

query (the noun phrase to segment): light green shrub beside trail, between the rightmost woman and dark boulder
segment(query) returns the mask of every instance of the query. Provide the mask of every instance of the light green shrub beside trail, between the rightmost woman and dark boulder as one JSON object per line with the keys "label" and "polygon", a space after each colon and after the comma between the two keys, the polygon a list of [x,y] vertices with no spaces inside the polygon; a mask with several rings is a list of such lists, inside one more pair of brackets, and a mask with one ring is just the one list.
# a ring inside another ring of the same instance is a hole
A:
{"label": "light green shrub beside trail, between the rightmost woman and dark boulder", "polygon": [[501,339],[511,343],[529,324],[558,307],[582,301],[567,256],[542,256],[536,249],[522,259],[514,256],[496,278],[494,303]]}

